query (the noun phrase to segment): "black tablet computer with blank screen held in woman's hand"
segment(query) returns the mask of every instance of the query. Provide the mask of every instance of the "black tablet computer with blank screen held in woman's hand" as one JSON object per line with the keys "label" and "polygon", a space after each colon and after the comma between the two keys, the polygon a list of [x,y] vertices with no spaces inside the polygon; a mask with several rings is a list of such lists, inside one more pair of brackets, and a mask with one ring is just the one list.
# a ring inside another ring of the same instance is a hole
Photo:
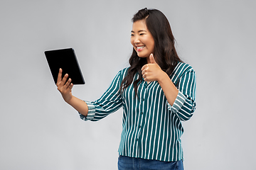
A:
{"label": "black tablet computer with blank screen held in woman's hand", "polygon": [[45,51],[45,55],[55,84],[57,84],[60,68],[63,69],[62,77],[68,73],[68,77],[72,80],[73,84],[85,84],[73,48],[48,50]]}

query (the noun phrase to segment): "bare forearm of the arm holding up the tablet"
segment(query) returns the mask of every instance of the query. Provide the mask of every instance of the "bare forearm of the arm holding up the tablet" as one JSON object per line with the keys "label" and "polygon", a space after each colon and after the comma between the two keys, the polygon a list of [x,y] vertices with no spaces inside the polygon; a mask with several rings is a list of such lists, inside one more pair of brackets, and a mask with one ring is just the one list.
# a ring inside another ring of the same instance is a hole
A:
{"label": "bare forearm of the arm holding up the tablet", "polygon": [[88,106],[85,103],[85,101],[82,101],[79,98],[76,98],[75,96],[72,96],[70,98],[69,101],[66,101],[68,104],[70,104],[70,106],[72,106],[73,108],[75,108],[75,110],[77,110],[79,113],[81,113],[82,115],[87,116],[88,113]]}

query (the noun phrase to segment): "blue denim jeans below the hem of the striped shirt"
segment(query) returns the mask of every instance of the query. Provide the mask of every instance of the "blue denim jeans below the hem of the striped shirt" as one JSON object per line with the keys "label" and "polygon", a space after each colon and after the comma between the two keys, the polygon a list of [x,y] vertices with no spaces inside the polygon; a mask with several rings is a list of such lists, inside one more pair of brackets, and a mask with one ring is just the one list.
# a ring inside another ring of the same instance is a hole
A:
{"label": "blue denim jeans below the hem of the striped shirt", "polygon": [[119,156],[118,158],[118,170],[172,170],[180,169],[183,170],[183,160],[176,162],[161,162],[156,160],[141,159]]}

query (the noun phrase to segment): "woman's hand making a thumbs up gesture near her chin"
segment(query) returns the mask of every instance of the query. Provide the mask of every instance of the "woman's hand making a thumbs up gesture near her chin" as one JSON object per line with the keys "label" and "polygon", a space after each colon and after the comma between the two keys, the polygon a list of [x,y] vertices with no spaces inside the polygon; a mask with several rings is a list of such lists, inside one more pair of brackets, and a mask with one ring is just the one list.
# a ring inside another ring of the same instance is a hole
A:
{"label": "woman's hand making a thumbs up gesture near her chin", "polygon": [[149,56],[150,63],[142,67],[142,77],[145,81],[159,81],[164,71],[154,60],[153,54]]}

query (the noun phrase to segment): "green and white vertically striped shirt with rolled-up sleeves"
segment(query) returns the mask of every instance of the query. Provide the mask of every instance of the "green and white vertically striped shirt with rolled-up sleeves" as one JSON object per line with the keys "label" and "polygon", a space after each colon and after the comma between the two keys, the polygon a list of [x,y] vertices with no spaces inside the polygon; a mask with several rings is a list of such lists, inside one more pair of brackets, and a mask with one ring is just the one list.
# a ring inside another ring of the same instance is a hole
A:
{"label": "green and white vertically striped shirt with rolled-up sleeves", "polygon": [[[183,159],[181,121],[188,120],[196,109],[196,74],[193,68],[179,62],[170,79],[178,89],[171,106],[157,81],[147,84],[144,79],[134,97],[131,84],[119,92],[128,68],[118,72],[107,91],[97,101],[87,103],[88,115],[82,120],[97,121],[123,108],[122,134],[118,152],[122,156],[174,162]],[[134,76],[134,80],[139,74]]]}

